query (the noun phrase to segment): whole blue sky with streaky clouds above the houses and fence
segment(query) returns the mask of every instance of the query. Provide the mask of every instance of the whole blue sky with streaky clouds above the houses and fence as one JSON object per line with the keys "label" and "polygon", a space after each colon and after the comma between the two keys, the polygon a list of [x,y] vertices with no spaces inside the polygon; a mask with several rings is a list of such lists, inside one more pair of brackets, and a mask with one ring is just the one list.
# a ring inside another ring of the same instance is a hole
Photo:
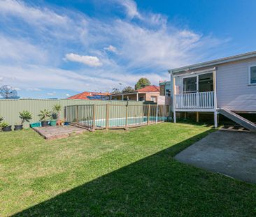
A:
{"label": "whole blue sky with streaky clouds above the houses and fence", "polygon": [[0,85],[66,98],[256,50],[256,1],[0,1]]}

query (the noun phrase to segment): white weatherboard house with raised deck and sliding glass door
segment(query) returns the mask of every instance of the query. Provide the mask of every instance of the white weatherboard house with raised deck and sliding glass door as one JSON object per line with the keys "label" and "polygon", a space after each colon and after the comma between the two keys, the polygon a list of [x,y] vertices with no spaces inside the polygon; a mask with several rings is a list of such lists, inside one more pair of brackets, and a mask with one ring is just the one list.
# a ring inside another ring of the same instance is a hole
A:
{"label": "white weatherboard house with raised deck and sliding glass door", "polygon": [[249,130],[253,122],[237,113],[256,113],[256,52],[169,70],[173,121],[176,112],[223,114]]}

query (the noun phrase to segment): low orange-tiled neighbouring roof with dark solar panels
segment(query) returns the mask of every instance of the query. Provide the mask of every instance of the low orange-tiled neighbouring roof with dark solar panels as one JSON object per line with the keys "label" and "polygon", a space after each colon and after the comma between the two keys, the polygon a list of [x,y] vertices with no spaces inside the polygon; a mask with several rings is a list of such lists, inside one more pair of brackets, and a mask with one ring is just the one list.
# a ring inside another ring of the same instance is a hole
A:
{"label": "low orange-tiled neighbouring roof with dark solar panels", "polygon": [[74,96],[70,96],[67,99],[72,100],[109,100],[110,93],[97,93],[97,92],[83,92]]}

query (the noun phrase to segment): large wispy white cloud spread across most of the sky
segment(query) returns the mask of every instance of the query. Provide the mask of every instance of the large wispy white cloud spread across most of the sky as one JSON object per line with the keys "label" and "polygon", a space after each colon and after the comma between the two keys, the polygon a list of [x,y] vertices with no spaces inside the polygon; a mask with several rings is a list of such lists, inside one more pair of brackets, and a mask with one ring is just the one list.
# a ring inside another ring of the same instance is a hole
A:
{"label": "large wispy white cloud spread across most of the sky", "polygon": [[[118,82],[134,86],[140,77],[157,84],[169,79],[167,69],[201,61],[206,54],[214,56],[223,47],[223,40],[211,35],[174,27],[165,15],[138,11],[135,1],[113,2],[126,9],[127,17],[139,21],[98,19],[66,8],[0,1],[0,25],[15,30],[0,34],[0,82],[4,77],[6,83],[29,91],[110,90]],[[26,28],[18,26],[17,20]],[[85,51],[90,56],[79,55]],[[63,57],[92,67],[65,70]]]}

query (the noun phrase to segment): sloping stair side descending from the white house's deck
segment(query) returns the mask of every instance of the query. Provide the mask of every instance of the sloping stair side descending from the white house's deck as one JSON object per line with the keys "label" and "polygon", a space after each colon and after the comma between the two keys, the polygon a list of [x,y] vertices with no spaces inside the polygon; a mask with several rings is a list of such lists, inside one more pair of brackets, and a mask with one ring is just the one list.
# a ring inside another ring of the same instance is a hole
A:
{"label": "sloping stair side descending from the white house's deck", "polygon": [[239,114],[236,114],[224,108],[218,109],[218,112],[225,117],[231,119],[232,121],[236,122],[236,124],[239,124],[250,131],[256,132],[256,124],[254,124],[252,121],[249,121],[248,119],[241,117]]}

